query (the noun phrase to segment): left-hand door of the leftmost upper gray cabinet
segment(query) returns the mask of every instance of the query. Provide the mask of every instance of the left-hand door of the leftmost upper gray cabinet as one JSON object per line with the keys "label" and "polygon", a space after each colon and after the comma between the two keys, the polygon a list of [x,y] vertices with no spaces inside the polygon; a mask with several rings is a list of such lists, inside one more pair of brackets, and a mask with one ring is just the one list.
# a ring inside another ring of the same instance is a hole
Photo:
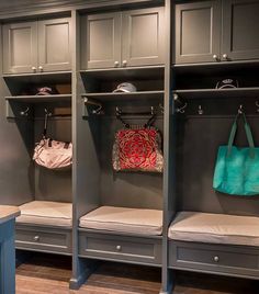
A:
{"label": "left-hand door of the leftmost upper gray cabinet", "polygon": [[3,25],[3,72],[35,72],[37,67],[37,23]]}

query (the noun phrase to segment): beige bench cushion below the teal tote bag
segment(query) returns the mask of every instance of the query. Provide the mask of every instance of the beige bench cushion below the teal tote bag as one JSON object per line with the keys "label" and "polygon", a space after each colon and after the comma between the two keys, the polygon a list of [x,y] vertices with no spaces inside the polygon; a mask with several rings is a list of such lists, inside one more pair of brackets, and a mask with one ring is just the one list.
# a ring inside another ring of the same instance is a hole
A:
{"label": "beige bench cushion below the teal tote bag", "polygon": [[181,212],[169,227],[173,240],[259,246],[259,217]]}

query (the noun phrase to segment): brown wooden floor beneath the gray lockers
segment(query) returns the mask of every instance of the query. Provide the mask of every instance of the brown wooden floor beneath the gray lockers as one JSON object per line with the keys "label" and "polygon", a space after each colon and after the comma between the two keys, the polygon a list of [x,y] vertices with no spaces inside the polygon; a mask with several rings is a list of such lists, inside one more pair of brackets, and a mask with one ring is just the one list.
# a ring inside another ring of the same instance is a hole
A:
{"label": "brown wooden floor beneath the gray lockers", "polygon": [[[16,294],[158,294],[160,270],[103,262],[79,291],[69,291],[70,258],[33,255],[16,268]],[[177,273],[173,294],[259,294],[257,281]]]}

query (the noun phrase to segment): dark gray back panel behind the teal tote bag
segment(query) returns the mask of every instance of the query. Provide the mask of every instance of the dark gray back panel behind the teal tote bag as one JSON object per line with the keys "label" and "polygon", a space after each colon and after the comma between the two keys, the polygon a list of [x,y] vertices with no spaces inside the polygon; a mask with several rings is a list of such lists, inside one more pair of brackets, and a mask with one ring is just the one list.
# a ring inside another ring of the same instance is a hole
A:
{"label": "dark gray back panel behind the teal tote bag", "polygon": [[[219,114],[217,104],[215,108]],[[257,144],[259,142],[258,118],[254,116],[248,120]],[[183,120],[179,117],[177,133],[178,211],[259,216],[258,196],[247,199],[217,193],[212,188],[217,148],[226,145],[233,121],[234,116],[227,115],[203,117],[198,114]],[[240,127],[235,140],[237,146],[247,145],[244,133]]]}

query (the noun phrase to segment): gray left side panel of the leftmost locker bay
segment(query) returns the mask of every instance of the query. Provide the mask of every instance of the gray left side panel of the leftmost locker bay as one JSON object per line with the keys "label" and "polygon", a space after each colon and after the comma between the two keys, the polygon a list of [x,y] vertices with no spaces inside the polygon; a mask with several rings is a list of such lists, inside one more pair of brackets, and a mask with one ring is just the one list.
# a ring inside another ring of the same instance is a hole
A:
{"label": "gray left side panel of the leftmost locker bay", "polygon": [[[2,56],[2,46],[0,52]],[[21,120],[16,125],[15,120],[5,118],[3,97],[10,95],[10,89],[2,78],[0,94],[2,97],[0,100],[0,199],[1,204],[21,205],[31,201],[34,193],[34,171],[30,165],[31,150],[34,146],[33,127],[27,120]]]}

